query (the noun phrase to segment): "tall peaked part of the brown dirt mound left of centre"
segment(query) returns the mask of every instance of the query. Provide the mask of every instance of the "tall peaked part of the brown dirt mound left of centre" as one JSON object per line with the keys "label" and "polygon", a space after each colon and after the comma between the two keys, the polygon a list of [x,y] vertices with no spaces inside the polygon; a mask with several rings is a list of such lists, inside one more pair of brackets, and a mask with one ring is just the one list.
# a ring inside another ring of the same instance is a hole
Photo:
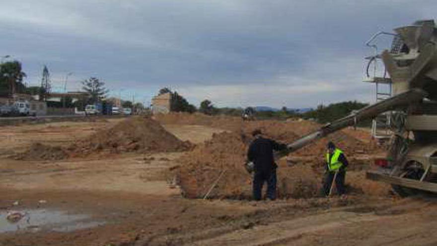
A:
{"label": "tall peaked part of the brown dirt mound left of centre", "polygon": [[70,147],[80,154],[92,152],[178,152],[192,148],[167,132],[157,121],[148,117],[132,117],[117,125],[97,131],[85,140]]}

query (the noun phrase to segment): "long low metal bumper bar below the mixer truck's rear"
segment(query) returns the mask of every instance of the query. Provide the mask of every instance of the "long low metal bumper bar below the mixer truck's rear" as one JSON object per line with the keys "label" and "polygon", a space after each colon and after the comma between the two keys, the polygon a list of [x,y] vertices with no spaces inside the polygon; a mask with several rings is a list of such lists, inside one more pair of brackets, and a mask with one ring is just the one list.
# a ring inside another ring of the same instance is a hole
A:
{"label": "long low metal bumper bar below the mixer truck's rear", "polygon": [[415,179],[409,179],[409,178],[401,178],[401,177],[395,177],[390,176],[388,174],[378,172],[378,171],[367,171],[365,174],[366,178],[375,180],[375,181],[382,181],[390,184],[396,184],[403,187],[413,188],[413,189],[419,189],[419,190],[426,190],[431,192],[437,193],[437,183],[431,183],[426,181],[420,181]]}

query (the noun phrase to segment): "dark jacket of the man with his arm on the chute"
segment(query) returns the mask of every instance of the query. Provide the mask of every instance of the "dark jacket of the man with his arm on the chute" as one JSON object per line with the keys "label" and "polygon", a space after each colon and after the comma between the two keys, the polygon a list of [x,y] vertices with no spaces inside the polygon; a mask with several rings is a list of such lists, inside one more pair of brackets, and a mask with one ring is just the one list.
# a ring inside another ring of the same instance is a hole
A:
{"label": "dark jacket of the man with his arm on the chute", "polygon": [[257,138],[249,146],[247,160],[255,165],[255,172],[271,172],[277,167],[273,151],[283,151],[287,145],[279,144],[271,139]]}

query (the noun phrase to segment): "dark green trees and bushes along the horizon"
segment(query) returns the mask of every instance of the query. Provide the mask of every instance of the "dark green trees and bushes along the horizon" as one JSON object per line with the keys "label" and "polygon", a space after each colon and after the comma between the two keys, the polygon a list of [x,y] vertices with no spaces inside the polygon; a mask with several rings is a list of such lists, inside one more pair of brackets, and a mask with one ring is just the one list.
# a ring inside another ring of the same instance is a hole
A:
{"label": "dark green trees and bushes along the horizon", "polygon": [[[30,95],[39,95],[40,100],[46,100],[51,92],[50,72],[46,66],[43,68],[42,80],[39,86],[26,86],[23,79],[26,74],[22,71],[21,63],[18,61],[9,61],[0,64],[0,96],[8,96],[14,93],[25,93]],[[106,98],[109,90],[105,87],[105,82],[98,78],[91,77],[81,81],[82,91],[87,96],[73,102],[73,98],[64,96],[60,102],[48,101],[48,106],[51,107],[77,107],[83,109],[86,104],[92,104],[102,101]],[[189,103],[186,98],[180,95],[177,91],[172,91],[167,87],[159,90],[159,94],[170,93],[170,110],[173,112],[200,112],[206,115],[230,115],[241,116],[243,108],[222,107],[219,108],[213,104],[209,99],[203,100],[199,108]],[[134,104],[132,101],[122,101],[123,107],[130,108],[144,108],[142,103]],[[254,111],[255,117],[259,119],[287,119],[291,117],[299,117],[303,119],[310,119],[320,123],[332,122],[336,119],[344,117],[353,110],[358,110],[367,106],[366,103],[357,101],[347,101],[340,103],[333,103],[327,106],[318,105],[317,109],[308,112],[299,112],[289,110],[283,107],[278,111]]]}

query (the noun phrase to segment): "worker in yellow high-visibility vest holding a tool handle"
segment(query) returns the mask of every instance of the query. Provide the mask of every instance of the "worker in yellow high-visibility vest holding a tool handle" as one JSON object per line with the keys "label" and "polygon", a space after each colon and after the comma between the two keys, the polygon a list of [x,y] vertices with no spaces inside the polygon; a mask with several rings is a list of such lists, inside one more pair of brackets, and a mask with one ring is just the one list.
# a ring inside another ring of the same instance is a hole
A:
{"label": "worker in yellow high-visibility vest holding a tool handle", "polygon": [[337,187],[337,193],[339,195],[345,194],[345,176],[346,167],[348,166],[348,160],[346,159],[343,151],[336,148],[334,143],[329,142],[326,152],[326,173],[323,182],[322,195],[328,196],[333,182],[335,173],[337,172],[334,180]]}

